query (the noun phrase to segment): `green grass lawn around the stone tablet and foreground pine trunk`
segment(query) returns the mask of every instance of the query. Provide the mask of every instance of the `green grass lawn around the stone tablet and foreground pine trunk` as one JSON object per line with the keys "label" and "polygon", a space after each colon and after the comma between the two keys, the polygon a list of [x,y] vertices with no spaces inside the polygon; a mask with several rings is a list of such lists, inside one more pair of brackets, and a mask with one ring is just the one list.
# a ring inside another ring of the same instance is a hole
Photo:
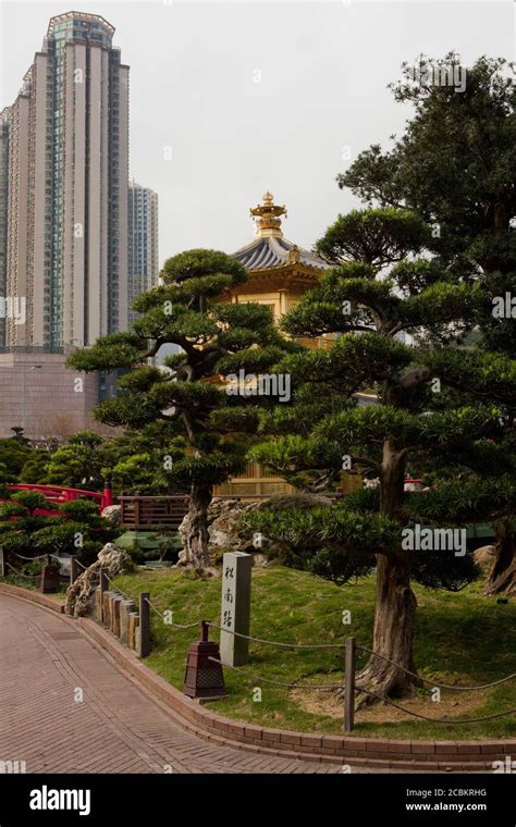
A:
{"label": "green grass lawn around the stone tablet and foreground pine trunk", "polygon": [[[200,580],[177,570],[144,571],[116,579],[131,596],[149,591],[160,612],[173,610],[176,624],[200,619],[218,621],[221,581]],[[516,672],[514,602],[497,604],[483,597],[480,584],[458,594],[431,592],[416,587],[418,598],[416,661],[421,675],[440,682],[488,683]],[[358,643],[371,644],[374,581],[339,588],[311,575],[274,567],[254,569],[250,633],[258,638],[292,643],[343,641],[354,634]],[[343,610],[352,613],[352,624],[343,625]],[[196,629],[174,629],[151,613],[152,652],[148,666],[182,688],[188,644],[198,639]],[[216,639],[218,635],[216,634]],[[281,650],[251,643],[249,676],[292,682],[337,683],[342,680],[341,650]],[[208,706],[223,715],[261,725],[340,733],[343,730],[340,703],[330,692],[292,692],[259,679],[224,669],[228,698]],[[261,689],[261,702],[254,688]],[[402,702],[405,703],[405,702]],[[414,705],[415,704],[415,705]],[[429,695],[411,702],[411,708],[431,717],[479,717],[516,707],[516,680],[482,693],[443,691],[442,702]],[[394,718],[394,719],[392,719]],[[380,706],[356,716],[357,736],[390,738],[504,738],[516,735],[516,719],[502,718],[482,724],[434,724],[409,718]]]}

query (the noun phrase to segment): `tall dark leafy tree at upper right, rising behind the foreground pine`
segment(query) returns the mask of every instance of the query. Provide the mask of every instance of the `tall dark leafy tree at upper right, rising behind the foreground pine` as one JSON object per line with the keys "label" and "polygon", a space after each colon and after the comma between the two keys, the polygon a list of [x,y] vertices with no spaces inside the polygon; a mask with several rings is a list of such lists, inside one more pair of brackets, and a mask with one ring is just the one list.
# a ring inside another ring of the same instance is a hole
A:
{"label": "tall dark leafy tree at upper right, rising behind the foreground pine", "polygon": [[[434,60],[421,55],[420,67],[451,71],[464,77],[464,90],[453,85],[421,84],[418,66],[404,64],[403,78],[391,86],[394,97],[415,109],[405,134],[392,149],[372,145],[339,175],[341,187],[381,207],[414,210],[432,226],[431,248],[445,267],[475,274],[486,293],[477,319],[479,345],[516,357],[516,85],[514,65],[503,59],[480,58],[472,66],[459,55]],[[480,334],[481,333],[481,338]],[[516,411],[506,402],[504,417]],[[507,424],[508,427],[508,424]],[[488,464],[494,477],[503,473],[511,440],[499,461]],[[475,458],[463,456],[463,468],[478,473]],[[516,465],[516,457],[511,460]],[[516,520],[495,523],[496,556],[487,592],[515,588]]]}

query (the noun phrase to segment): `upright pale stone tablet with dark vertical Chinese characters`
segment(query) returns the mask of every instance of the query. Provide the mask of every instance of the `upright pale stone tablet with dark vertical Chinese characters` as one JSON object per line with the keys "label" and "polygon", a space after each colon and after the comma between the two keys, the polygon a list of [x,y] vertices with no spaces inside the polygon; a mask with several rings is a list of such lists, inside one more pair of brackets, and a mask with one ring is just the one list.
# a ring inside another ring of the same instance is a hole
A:
{"label": "upright pale stone tablet with dark vertical Chinese characters", "polygon": [[249,641],[231,632],[249,634],[251,566],[251,555],[244,552],[229,552],[222,560],[220,659],[228,666],[249,659]]}

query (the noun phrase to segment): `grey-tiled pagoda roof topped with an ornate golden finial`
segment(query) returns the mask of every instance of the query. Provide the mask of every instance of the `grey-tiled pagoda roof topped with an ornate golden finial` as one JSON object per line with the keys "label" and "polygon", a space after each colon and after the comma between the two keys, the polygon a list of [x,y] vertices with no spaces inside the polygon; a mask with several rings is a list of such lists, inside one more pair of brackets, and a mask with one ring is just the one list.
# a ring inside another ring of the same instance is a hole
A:
{"label": "grey-tiled pagoda roof topped with an ornate golden finial", "polygon": [[315,270],[325,270],[328,264],[314,252],[298,247],[284,237],[281,230],[281,215],[286,217],[285,207],[274,203],[271,193],[266,193],[263,201],[250,209],[257,219],[255,238],[233,252],[246,270],[270,270],[271,268],[302,263]]}

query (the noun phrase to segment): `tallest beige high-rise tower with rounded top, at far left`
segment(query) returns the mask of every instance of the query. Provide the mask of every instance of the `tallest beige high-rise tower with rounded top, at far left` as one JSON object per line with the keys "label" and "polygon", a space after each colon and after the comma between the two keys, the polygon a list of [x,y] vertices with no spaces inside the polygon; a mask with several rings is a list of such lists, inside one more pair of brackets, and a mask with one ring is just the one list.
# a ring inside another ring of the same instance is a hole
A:
{"label": "tallest beige high-rise tower with rounded top, at far left", "polygon": [[113,34],[96,14],[51,17],[2,112],[4,295],[26,299],[25,323],[5,319],[8,347],[83,346],[126,329],[128,66]]}

